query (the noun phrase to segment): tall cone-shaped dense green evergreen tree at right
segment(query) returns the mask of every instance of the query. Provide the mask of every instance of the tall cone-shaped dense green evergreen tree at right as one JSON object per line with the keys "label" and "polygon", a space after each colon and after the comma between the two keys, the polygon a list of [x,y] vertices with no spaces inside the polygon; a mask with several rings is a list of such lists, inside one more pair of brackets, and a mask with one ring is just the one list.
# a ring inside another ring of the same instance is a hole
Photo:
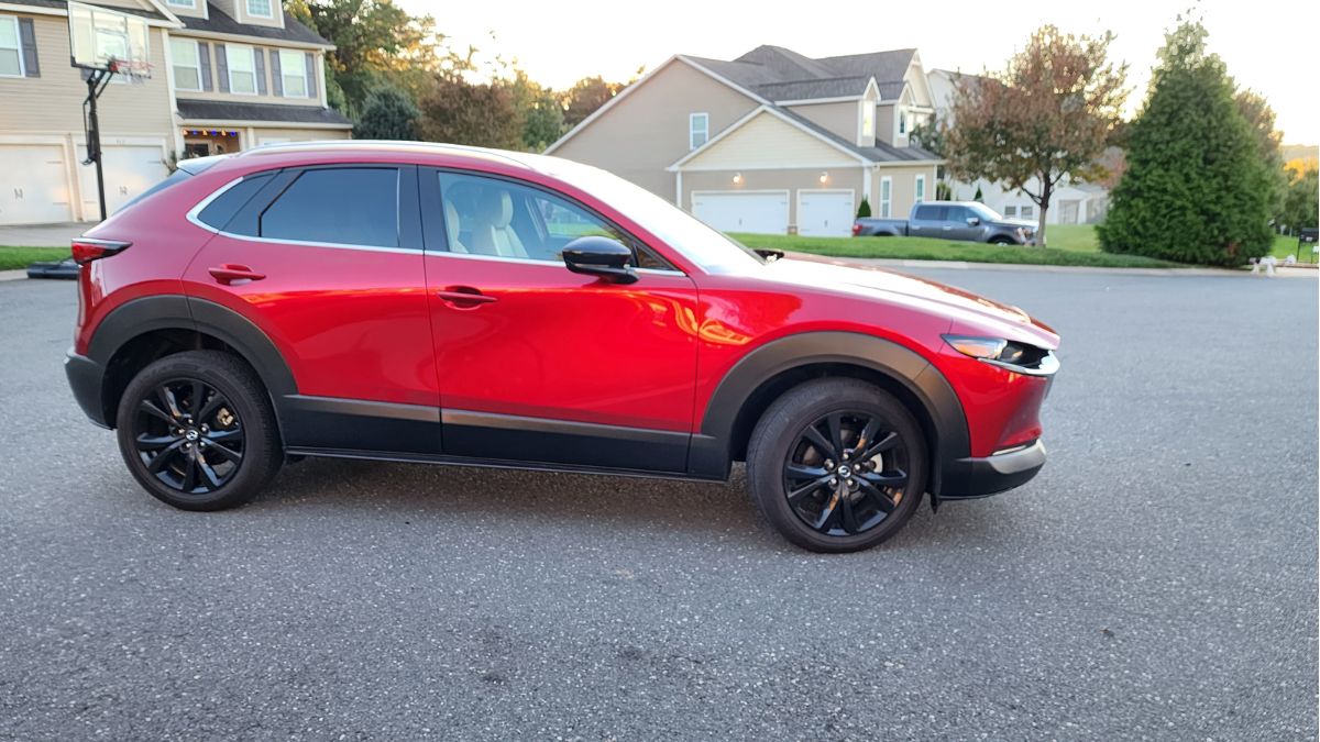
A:
{"label": "tall cone-shaped dense green evergreen tree at right", "polygon": [[1127,132],[1127,172],[1110,194],[1100,244],[1107,252],[1239,265],[1272,243],[1270,173],[1224,62],[1206,53],[1205,28],[1179,21]]}

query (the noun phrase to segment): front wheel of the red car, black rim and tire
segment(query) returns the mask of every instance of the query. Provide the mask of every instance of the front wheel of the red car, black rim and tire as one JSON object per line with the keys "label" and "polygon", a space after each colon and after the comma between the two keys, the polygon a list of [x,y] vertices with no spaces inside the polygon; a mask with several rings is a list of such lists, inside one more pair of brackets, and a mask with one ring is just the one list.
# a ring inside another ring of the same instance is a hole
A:
{"label": "front wheel of the red car, black rim and tire", "polygon": [[[842,446],[833,445],[834,420]],[[869,442],[859,440],[862,433],[870,434]],[[862,459],[851,477],[841,477],[863,453],[857,444],[878,453]],[[747,446],[747,483],[756,510],[793,544],[857,552],[884,541],[912,518],[925,494],[927,463],[921,428],[898,399],[857,379],[820,379],[789,389],[756,422]]]}

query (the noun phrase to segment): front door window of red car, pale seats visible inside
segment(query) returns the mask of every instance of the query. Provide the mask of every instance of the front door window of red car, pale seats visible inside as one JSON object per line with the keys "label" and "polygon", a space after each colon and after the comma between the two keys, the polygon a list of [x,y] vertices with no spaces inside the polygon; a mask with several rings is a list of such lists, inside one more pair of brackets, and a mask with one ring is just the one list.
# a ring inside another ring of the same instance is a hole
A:
{"label": "front door window of red car, pale seats visible inside", "polygon": [[632,247],[639,268],[669,268],[605,219],[544,190],[510,181],[440,173],[450,252],[561,263],[564,246],[598,235]]}

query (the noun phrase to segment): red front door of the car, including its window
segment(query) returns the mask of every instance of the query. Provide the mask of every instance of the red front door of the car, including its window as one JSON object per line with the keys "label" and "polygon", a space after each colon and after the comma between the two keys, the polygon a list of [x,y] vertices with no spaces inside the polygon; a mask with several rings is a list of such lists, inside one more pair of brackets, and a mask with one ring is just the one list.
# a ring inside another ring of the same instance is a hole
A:
{"label": "red front door of the car, including its window", "polygon": [[[420,172],[444,452],[682,471],[697,362],[692,280],[585,206],[520,181]],[[603,234],[640,279],[569,272]]]}

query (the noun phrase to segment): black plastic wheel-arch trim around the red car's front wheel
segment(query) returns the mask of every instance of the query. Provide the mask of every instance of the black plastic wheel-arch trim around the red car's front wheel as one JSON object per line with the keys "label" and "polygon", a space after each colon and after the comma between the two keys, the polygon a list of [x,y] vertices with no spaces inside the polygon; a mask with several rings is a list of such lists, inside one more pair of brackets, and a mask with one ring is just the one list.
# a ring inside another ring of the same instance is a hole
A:
{"label": "black plastic wheel-arch trim around the red car's front wheel", "polygon": [[722,477],[727,473],[738,416],[751,395],[785,371],[820,363],[858,366],[900,384],[921,405],[919,421],[929,428],[932,478],[928,490],[939,495],[944,481],[961,477],[958,459],[970,455],[972,441],[962,404],[948,379],[916,351],[874,335],[845,331],[788,335],[738,360],[710,395],[701,432],[693,436],[689,474]]}

